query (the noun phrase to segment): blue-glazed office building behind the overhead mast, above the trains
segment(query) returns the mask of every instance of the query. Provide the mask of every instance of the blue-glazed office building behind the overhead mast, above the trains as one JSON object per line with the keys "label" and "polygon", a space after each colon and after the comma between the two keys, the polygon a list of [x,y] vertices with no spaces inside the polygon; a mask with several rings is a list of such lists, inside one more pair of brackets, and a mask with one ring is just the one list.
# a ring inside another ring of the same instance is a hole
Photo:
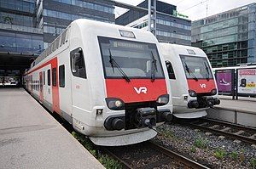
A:
{"label": "blue-glazed office building behind the overhead mast, above the trains", "polygon": [[[148,8],[148,0],[137,5]],[[175,16],[177,7],[160,1],[156,2],[156,38],[160,42],[191,45],[191,21]],[[115,23],[139,29],[148,29],[148,12],[128,11],[120,15]]]}

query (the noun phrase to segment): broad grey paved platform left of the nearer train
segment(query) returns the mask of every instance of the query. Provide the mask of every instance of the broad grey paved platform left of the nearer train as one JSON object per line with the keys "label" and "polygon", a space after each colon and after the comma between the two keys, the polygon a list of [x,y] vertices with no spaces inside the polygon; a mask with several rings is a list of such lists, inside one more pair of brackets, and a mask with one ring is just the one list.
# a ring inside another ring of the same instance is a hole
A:
{"label": "broad grey paved platform left of the nearer train", "polygon": [[23,88],[0,88],[0,168],[104,168]]}

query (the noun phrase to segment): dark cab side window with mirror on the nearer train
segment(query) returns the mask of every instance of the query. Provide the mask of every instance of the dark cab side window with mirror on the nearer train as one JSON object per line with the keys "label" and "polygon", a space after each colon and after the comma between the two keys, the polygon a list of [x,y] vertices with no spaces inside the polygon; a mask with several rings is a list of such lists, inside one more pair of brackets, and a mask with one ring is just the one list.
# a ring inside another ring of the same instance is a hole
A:
{"label": "dark cab side window with mirror on the nearer train", "polygon": [[70,64],[73,76],[86,79],[84,54],[82,48],[76,48],[70,53]]}

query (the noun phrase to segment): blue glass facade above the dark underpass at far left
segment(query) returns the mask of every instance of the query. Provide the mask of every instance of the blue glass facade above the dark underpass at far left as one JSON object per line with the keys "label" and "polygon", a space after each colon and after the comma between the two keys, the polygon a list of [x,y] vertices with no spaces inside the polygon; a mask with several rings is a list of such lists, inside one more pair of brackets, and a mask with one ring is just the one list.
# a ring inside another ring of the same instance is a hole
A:
{"label": "blue glass facade above the dark underpass at far left", "polygon": [[43,31],[33,23],[35,1],[1,0],[0,11],[0,53],[40,54]]}

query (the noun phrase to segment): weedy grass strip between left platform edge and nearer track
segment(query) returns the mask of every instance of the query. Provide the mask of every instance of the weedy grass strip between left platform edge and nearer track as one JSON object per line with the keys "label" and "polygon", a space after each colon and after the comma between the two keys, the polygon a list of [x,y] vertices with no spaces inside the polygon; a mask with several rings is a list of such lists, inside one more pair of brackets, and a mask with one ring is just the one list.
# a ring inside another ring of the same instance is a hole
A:
{"label": "weedy grass strip between left platform edge and nearer track", "polygon": [[79,134],[77,132],[72,132],[72,135],[74,138],[76,138],[80,144],[82,144],[85,149],[87,149],[91,155],[96,157],[98,161],[102,163],[103,166],[105,166],[107,169],[119,169],[122,168],[121,164],[119,161],[113,160],[108,155],[102,155],[97,149],[94,144],[91,143],[90,139],[85,138],[84,135]]}

